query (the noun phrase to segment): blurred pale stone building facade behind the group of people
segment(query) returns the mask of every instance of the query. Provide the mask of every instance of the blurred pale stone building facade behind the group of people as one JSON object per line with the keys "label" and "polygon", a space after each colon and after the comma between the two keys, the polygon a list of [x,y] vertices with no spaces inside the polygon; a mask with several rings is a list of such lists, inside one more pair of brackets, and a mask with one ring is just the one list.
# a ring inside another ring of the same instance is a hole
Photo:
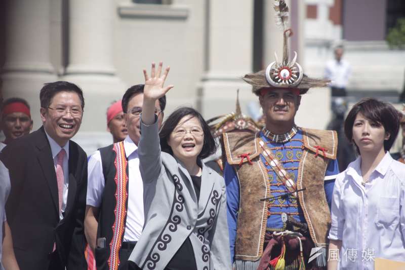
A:
{"label": "blurred pale stone building facade behind the group of people", "polygon": [[[322,76],[334,45],[343,42],[353,93],[401,91],[405,53],[390,50],[384,41],[392,1],[287,3],[295,32],[291,49],[307,74]],[[237,89],[244,112],[248,104],[258,107],[258,98],[240,78],[265,68],[274,51],[281,55],[282,35],[269,0],[12,0],[2,5],[4,97],[27,99],[38,128],[43,84],[79,85],[86,106],[74,140],[88,153],[112,142],[106,109],[129,86],[143,83],[142,69],[152,61],[171,66],[167,84],[175,88],[166,115],[186,105],[210,118],[234,109]],[[325,128],[329,104],[329,89],[311,90],[302,99],[297,124]]]}

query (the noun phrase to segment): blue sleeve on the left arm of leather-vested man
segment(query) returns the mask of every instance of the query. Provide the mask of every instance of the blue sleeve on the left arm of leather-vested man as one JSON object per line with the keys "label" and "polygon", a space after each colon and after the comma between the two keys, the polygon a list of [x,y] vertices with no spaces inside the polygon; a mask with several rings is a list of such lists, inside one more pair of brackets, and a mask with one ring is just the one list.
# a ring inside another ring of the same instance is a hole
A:
{"label": "blue sleeve on the left arm of leather-vested man", "polygon": [[235,254],[236,221],[239,210],[239,180],[232,166],[225,163],[224,179],[226,184],[226,214],[229,229],[229,248],[231,251],[231,261]]}

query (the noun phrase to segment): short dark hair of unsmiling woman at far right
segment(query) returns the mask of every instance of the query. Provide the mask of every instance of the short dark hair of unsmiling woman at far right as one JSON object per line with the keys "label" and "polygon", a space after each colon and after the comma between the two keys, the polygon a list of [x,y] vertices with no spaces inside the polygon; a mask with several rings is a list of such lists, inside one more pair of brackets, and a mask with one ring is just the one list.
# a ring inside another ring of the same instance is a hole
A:
{"label": "short dark hair of unsmiling woman at far right", "polygon": [[[357,113],[361,113],[369,121],[383,125],[385,132],[390,134],[389,139],[384,141],[384,150],[389,151],[398,136],[400,120],[398,111],[391,104],[375,98],[360,100],[351,108],[345,120],[345,135],[349,141],[353,141],[353,124]],[[356,148],[357,153],[360,153],[357,145]]]}

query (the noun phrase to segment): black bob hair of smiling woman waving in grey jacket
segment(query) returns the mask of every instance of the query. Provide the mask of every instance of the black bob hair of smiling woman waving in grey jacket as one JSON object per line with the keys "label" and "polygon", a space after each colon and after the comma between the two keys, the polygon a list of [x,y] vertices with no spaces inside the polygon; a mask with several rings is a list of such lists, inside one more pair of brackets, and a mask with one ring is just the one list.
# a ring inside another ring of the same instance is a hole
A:
{"label": "black bob hair of smiling woman waving in grey jacket", "polygon": [[173,156],[172,147],[168,144],[170,134],[179,124],[180,120],[185,117],[189,116],[190,118],[197,118],[201,127],[204,131],[204,144],[203,149],[198,155],[199,159],[205,159],[215,153],[217,149],[217,144],[214,140],[210,132],[210,127],[208,126],[207,122],[204,120],[203,116],[193,108],[190,107],[180,107],[173,111],[169,117],[166,119],[165,123],[163,123],[162,128],[159,132],[160,137],[160,148],[162,151],[170,153]]}

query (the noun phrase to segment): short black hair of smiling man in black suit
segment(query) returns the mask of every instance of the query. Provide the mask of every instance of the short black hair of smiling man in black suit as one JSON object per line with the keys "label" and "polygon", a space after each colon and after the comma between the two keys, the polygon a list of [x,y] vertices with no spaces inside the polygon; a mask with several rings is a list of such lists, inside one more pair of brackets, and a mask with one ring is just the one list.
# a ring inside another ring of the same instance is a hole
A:
{"label": "short black hair of smiling man in black suit", "polygon": [[41,107],[48,108],[51,104],[52,98],[59,92],[74,92],[76,93],[80,101],[82,101],[82,109],[85,108],[85,98],[83,97],[83,91],[77,85],[65,82],[58,81],[53,83],[44,84],[44,87],[39,93],[39,100],[41,101]]}

